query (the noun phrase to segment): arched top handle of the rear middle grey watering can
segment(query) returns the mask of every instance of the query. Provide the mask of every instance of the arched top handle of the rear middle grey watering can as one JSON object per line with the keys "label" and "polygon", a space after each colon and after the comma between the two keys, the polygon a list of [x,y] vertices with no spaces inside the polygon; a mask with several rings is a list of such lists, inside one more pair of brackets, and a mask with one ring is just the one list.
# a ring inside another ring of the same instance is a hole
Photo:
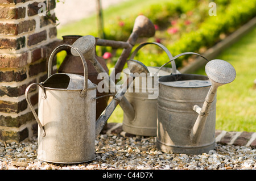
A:
{"label": "arched top handle of the rear middle grey watering can", "polygon": [[[171,54],[171,52],[170,52],[166,47],[164,47],[164,45],[162,45],[162,44],[160,44],[160,43],[156,43],[156,42],[146,42],[146,43],[140,44],[140,45],[134,50],[134,52],[131,54],[130,59],[133,59],[133,58],[135,57],[135,55],[137,54],[138,50],[141,49],[142,47],[144,47],[144,45],[147,45],[147,44],[158,45],[158,47],[162,48],[162,49],[164,50],[164,52],[166,52],[166,54],[167,54],[169,60],[172,60],[172,54]],[[172,64],[172,74],[176,74],[176,73],[177,73],[177,69],[176,69],[175,61],[172,61],[171,64]]]}

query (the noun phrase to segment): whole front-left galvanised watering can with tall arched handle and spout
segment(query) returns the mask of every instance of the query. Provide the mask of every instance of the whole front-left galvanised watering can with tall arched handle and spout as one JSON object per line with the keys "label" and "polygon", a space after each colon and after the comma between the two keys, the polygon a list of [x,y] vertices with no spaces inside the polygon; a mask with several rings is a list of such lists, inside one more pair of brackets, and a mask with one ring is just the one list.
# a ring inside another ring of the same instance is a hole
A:
{"label": "whole front-left galvanised watering can with tall arched handle and spout", "polygon": [[[70,47],[82,61],[84,76],[68,73],[51,74],[53,57],[59,50]],[[128,61],[131,72],[148,72],[146,66],[136,61]],[[95,139],[106,121],[133,82],[129,76],[122,89],[115,94],[96,121],[96,88],[88,79],[88,70],[84,56],[72,45],[64,44],[55,48],[49,57],[48,78],[41,83],[32,83],[26,89],[25,96],[39,126],[38,158],[53,163],[82,163],[95,158]],[[39,86],[38,115],[28,91]]]}

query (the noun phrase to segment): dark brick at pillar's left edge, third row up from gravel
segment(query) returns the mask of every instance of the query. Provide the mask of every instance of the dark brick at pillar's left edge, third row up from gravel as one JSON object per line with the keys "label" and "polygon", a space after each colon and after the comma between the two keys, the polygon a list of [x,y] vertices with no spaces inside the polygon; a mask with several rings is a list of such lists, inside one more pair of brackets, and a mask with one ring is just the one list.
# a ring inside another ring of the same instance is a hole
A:
{"label": "dark brick at pillar's left edge, third row up from gravel", "polygon": [[26,99],[23,99],[18,103],[0,100],[0,112],[19,113],[20,111],[26,110],[26,108],[27,108]]}

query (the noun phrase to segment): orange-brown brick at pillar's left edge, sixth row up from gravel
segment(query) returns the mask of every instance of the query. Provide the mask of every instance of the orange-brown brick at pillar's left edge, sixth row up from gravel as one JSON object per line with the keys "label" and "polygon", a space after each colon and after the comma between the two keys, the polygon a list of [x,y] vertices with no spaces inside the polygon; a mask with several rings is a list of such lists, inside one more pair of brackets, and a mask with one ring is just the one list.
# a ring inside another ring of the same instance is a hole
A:
{"label": "orange-brown brick at pillar's left edge, sixth row up from gravel", "polygon": [[20,54],[0,54],[0,69],[22,68],[27,65],[28,52]]}

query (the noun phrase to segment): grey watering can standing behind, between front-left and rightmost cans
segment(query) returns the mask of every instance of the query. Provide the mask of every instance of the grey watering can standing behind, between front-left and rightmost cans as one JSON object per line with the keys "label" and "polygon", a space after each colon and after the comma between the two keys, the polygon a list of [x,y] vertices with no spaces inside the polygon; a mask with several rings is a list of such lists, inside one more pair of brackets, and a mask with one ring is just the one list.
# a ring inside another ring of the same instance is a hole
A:
{"label": "grey watering can standing behind, between front-left and rightmost cans", "polygon": [[[140,44],[131,54],[130,59],[133,60],[138,50],[148,44],[162,48],[168,58],[172,59],[169,50],[162,44],[155,42]],[[179,71],[176,70],[175,61],[171,61],[171,64],[172,69],[160,70],[159,74],[155,74],[157,68],[147,67],[151,74],[148,74],[145,78],[136,77],[134,79],[133,86],[130,86],[131,91],[129,89],[125,94],[125,98],[134,109],[134,115],[130,115],[129,112],[123,110],[123,131],[141,136],[156,136],[158,78],[164,75],[179,74]],[[128,76],[129,68],[124,69],[123,73]]]}

